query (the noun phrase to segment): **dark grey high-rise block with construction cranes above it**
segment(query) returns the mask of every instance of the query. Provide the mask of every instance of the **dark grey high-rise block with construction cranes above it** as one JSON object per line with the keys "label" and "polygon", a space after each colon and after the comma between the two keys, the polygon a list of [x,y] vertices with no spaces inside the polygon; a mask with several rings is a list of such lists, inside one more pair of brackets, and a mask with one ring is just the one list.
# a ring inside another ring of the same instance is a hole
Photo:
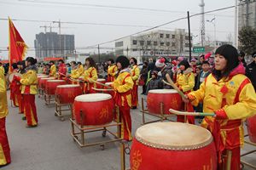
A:
{"label": "dark grey high-rise block with construction cranes above it", "polygon": [[56,32],[39,33],[34,41],[36,57],[67,57],[74,53],[74,35],[58,34]]}

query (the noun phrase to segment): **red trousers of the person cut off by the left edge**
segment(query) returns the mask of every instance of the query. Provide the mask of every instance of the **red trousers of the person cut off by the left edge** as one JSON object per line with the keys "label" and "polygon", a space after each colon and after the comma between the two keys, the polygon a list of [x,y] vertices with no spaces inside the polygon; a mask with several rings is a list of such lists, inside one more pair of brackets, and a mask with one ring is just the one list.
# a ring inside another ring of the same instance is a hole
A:
{"label": "red trousers of the person cut off by the left edge", "polygon": [[0,166],[1,166],[11,162],[9,142],[6,134],[6,128],[5,128],[5,117],[0,118],[0,146],[3,150],[3,153],[1,153],[2,150],[0,148]]}

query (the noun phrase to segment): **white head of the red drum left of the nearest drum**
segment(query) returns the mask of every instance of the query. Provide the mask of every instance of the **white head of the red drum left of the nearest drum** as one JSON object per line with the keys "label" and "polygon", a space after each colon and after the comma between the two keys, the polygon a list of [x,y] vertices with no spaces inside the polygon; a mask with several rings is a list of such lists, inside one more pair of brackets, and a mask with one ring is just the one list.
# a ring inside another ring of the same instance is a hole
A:
{"label": "white head of the red drum left of the nearest drum", "polygon": [[75,98],[75,101],[81,102],[96,102],[96,101],[104,101],[107,99],[111,99],[110,94],[83,94],[79,95]]}

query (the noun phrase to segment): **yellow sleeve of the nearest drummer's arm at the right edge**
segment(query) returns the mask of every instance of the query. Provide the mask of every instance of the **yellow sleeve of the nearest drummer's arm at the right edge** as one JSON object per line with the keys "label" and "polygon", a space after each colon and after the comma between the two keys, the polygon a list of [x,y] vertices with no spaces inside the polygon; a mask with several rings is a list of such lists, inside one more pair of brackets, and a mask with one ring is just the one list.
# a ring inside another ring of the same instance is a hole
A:
{"label": "yellow sleeve of the nearest drummer's arm at the right edge", "polygon": [[256,115],[256,94],[252,83],[242,88],[239,102],[235,105],[225,105],[223,109],[230,120]]}

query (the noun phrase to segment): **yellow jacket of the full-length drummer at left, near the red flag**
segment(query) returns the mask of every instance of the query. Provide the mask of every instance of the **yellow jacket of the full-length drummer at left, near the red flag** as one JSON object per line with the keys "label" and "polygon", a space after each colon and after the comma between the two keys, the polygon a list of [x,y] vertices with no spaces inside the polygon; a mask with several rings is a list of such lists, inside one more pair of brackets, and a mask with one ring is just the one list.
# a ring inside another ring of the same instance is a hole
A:
{"label": "yellow jacket of the full-length drummer at left, near the red flag", "polygon": [[38,76],[34,70],[28,70],[20,79],[21,94],[38,94]]}

